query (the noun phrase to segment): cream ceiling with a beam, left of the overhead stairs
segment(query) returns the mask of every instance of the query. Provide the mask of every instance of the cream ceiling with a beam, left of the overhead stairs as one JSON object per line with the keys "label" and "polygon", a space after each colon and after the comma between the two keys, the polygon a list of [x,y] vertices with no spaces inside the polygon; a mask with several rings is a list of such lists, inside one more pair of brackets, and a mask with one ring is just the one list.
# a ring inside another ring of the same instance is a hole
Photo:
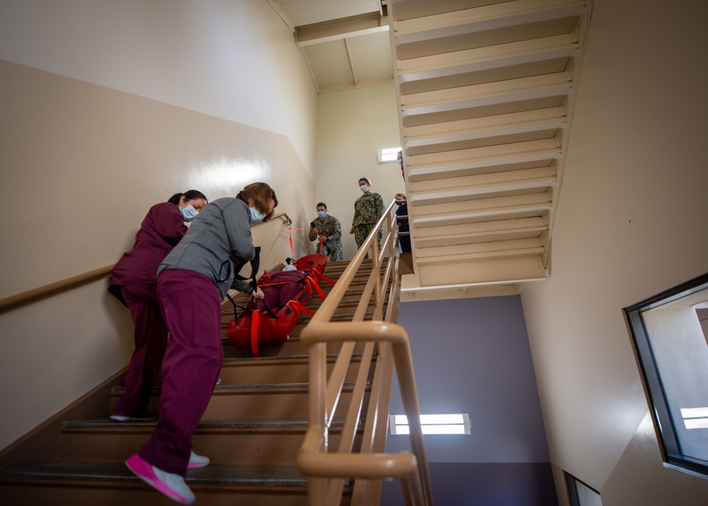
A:
{"label": "cream ceiling with a beam, left of the overhead stairs", "polygon": [[318,93],[393,79],[386,0],[267,1],[292,30]]}

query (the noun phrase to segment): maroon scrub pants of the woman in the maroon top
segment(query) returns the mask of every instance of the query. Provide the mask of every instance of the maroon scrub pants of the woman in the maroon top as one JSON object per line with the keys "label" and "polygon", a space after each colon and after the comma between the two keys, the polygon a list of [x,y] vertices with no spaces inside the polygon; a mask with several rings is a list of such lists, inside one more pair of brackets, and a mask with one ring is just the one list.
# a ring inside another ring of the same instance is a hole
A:
{"label": "maroon scrub pants of the woman in the maroon top", "polygon": [[125,373],[125,392],[115,403],[113,414],[130,416],[147,411],[152,387],[160,382],[167,327],[157,304],[154,284],[121,286],[120,292],[135,326],[135,352]]}

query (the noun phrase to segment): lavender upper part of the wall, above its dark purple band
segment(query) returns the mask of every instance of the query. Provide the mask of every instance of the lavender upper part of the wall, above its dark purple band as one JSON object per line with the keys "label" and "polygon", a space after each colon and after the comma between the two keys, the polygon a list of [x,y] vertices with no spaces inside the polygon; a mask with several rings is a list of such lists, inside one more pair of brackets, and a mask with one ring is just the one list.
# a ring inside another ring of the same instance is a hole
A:
{"label": "lavender upper part of the wall, above its dark purple band", "polygon": [[[548,445],[518,296],[401,304],[424,413],[469,412],[471,436],[426,436],[430,462],[547,463]],[[398,383],[392,413],[402,413]],[[388,437],[387,451],[409,449]]]}

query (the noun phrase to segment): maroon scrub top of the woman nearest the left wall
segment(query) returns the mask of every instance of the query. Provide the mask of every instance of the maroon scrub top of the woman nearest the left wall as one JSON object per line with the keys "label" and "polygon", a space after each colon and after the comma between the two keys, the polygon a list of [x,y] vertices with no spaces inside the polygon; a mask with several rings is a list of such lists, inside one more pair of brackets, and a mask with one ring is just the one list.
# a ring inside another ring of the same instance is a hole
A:
{"label": "maroon scrub top of the woman nearest the left wall", "polygon": [[108,291],[125,304],[120,286],[155,283],[157,268],[187,232],[179,208],[173,203],[156,204],[142,220],[135,244],[113,267]]}

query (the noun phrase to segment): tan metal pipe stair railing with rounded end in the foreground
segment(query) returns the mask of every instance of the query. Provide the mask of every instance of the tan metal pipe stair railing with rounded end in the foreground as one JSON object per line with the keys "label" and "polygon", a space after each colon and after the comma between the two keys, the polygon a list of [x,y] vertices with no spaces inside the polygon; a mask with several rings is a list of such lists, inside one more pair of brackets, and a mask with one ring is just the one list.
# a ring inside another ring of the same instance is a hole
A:
{"label": "tan metal pipe stair railing with rounded end in the foreground", "polygon": [[[309,476],[310,506],[339,505],[346,480],[351,478],[357,478],[351,500],[353,506],[378,505],[383,478],[401,481],[409,506],[433,506],[409,339],[406,330],[395,323],[398,320],[400,275],[391,218],[394,203],[392,201],[389,205],[300,337],[309,345],[309,428],[297,455],[297,466]],[[384,224],[387,234],[379,251],[376,237]],[[353,319],[332,322],[367,252],[371,253],[373,266]],[[372,296],[374,311],[367,315]],[[329,378],[326,369],[328,343],[341,344]],[[336,449],[330,449],[329,429],[358,343],[364,347],[360,369],[347,407],[340,444]],[[375,370],[365,410],[361,449],[358,454],[353,454],[375,351]],[[412,454],[384,453],[394,363],[409,420]]]}

